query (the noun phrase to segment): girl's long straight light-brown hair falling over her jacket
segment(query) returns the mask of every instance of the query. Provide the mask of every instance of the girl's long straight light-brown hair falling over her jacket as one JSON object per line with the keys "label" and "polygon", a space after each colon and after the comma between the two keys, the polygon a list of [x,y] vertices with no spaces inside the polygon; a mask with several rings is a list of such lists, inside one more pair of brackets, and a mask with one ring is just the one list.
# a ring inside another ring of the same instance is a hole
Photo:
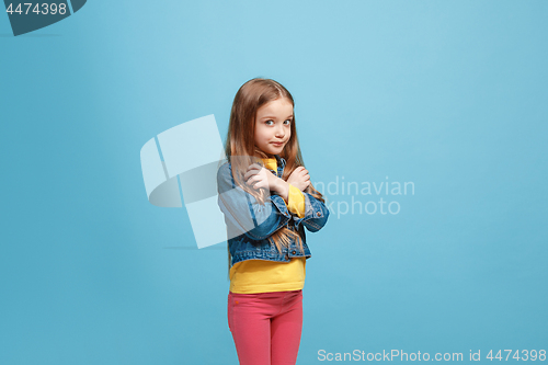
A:
{"label": "girl's long straight light-brown hair falling over her jacket", "polygon": [[[255,116],[256,111],[264,104],[277,100],[279,98],[287,99],[292,105],[295,107],[295,102],[292,94],[284,88],[281,83],[271,80],[254,78],[241,85],[241,88],[236,93],[232,110],[230,112],[230,122],[228,125],[228,135],[225,146],[225,153],[227,160],[231,163],[232,178],[235,182],[243,189],[243,191],[253,195],[256,201],[264,205],[266,198],[266,191],[264,189],[254,190],[246,184],[243,180],[243,174],[247,172],[248,167],[251,163],[263,164],[262,161],[255,156],[262,156],[263,158],[269,158],[266,153],[259,150],[254,145],[254,130],[255,130]],[[282,179],[287,181],[292,172],[298,167],[305,167],[302,161],[302,156],[300,155],[299,141],[297,138],[297,127],[295,124],[295,112],[293,115],[293,122],[290,124],[292,135],[289,140],[284,146],[284,149],[279,153],[279,157],[286,160],[286,166]],[[232,156],[235,157],[232,159]],[[237,158],[236,158],[237,157]],[[318,192],[312,183],[308,185],[305,190],[316,197],[317,199],[324,203],[323,196]],[[271,244],[275,244],[279,253],[282,253],[282,247],[288,247],[292,240],[298,242],[300,252],[304,252],[302,239],[300,235],[287,228],[286,226],[276,230],[270,238]],[[228,275],[230,277],[231,255],[230,249],[227,242],[228,250]]]}

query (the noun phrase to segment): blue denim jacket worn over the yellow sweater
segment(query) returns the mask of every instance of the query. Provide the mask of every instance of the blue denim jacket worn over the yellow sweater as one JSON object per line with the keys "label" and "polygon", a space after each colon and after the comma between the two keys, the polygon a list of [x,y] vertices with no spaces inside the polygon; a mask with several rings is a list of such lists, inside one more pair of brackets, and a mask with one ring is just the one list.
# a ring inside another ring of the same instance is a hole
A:
{"label": "blue denim jacket worn over the yellow sweater", "polygon": [[[285,159],[275,155],[277,160],[277,171],[272,173],[282,178]],[[289,262],[292,258],[310,258],[310,249],[306,243],[306,227],[309,231],[320,230],[329,217],[329,209],[312,195],[302,192],[305,195],[306,213],[302,218],[292,214],[284,202],[284,198],[275,192],[270,192],[270,197],[261,205],[253,195],[237,186],[231,172],[230,163],[226,162],[217,171],[218,205],[225,214],[227,225],[228,247],[232,256],[232,265],[244,260],[267,260]],[[282,246],[282,254],[276,246],[269,241],[269,237],[275,231],[286,226],[298,231],[301,240],[304,253],[298,244],[292,239],[288,248]]]}

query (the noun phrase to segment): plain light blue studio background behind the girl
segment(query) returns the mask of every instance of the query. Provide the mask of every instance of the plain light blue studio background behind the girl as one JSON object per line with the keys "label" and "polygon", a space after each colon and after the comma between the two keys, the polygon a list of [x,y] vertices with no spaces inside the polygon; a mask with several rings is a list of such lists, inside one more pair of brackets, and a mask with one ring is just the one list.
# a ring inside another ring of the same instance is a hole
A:
{"label": "plain light blue studio background behind the girl", "polygon": [[[546,1],[88,1],[0,15],[1,364],[237,364],[225,243],[147,201],[139,151],[238,88],[293,93],[312,183],[413,182],[308,232],[318,351],[548,347]],[[386,178],[388,176],[388,179]],[[330,202],[350,195],[328,194]],[[193,249],[194,248],[194,249]]]}

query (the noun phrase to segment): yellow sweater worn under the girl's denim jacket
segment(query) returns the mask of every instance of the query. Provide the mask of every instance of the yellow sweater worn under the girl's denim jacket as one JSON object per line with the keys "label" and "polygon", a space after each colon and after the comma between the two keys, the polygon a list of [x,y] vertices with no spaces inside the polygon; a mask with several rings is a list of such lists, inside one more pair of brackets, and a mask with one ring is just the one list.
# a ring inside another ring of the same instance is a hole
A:
{"label": "yellow sweater worn under the girl's denim jacket", "polygon": [[[277,170],[275,158],[263,159],[264,167]],[[284,199],[285,202],[285,199]],[[289,184],[287,209],[299,218],[305,216],[305,195]],[[305,287],[306,259],[293,258],[288,263],[246,260],[236,263],[230,269],[230,292],[250,294],[266,292],[298,290]]]}

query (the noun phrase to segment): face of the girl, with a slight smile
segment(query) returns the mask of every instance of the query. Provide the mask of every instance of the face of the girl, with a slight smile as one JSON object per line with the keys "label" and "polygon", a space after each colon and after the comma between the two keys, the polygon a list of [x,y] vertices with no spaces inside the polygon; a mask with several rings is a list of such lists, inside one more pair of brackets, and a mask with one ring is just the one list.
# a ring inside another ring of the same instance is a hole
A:
{"label": "face of the girl, with a slight smile", "polygon": [[266,155],[279,155],[292,136],[293,104],[286,98],[273,100],[256,111],[255,146]]}

